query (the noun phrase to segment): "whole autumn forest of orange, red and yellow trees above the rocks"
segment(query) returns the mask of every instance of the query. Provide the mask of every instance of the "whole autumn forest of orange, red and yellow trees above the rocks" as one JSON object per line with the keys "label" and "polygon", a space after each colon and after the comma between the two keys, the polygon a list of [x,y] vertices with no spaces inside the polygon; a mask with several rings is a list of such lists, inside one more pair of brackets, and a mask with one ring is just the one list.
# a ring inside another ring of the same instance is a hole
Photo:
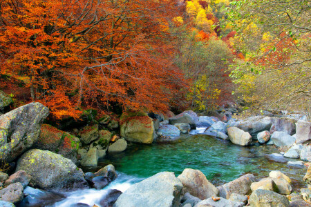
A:
{"label": "whole autumn forest of orange, red and yellow trees above the rocks", "polygon": [[83,110],[207,112],[227,103],[310,119],[310,1],[3,0],[0,89],[50,119]]}

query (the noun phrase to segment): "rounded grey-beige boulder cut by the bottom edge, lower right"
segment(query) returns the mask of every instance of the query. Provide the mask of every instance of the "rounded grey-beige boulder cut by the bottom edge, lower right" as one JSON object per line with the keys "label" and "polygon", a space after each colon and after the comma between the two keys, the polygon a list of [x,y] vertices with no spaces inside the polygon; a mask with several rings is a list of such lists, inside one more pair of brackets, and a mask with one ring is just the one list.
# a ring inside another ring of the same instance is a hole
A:
{"label": "rounded grey-beige boulder cut by the bottom edge, lower right", "polygon": [[279,193],[275,193],[270,190],[255,190],[252,195],[250,195],[249,204],[254,207],[265,207],[265,206],[278,206],[278,207],[288,207],[290,206],[290,201]]}

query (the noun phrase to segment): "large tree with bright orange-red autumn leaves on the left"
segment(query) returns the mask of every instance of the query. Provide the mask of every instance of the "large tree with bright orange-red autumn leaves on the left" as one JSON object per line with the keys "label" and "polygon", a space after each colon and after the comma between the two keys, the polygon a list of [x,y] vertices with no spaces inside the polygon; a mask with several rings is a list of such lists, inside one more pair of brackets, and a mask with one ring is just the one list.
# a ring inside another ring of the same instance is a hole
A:
{"label": "large tree with bright orange-red autumn leaves on the left", "polygon": [[1,73],[26,77],[57,119],[89,106],[165,110],[186,85],[171,61],[173,3],[1,1]]}

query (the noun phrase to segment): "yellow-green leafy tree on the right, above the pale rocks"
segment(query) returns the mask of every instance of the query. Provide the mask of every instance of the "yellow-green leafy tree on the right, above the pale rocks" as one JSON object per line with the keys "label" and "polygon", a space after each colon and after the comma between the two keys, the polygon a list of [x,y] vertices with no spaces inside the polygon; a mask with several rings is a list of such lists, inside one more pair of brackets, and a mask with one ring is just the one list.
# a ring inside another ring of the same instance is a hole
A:
{"label": "yellow-green leafy tree on the right, above the pale rocks", "polygon": [[[236,30],[236,50],[245,66],[236,81],[252,76],[253,102],[265,107],[311,112],[310,1],[232,1],[229,21]],[[241,71],[242,70],[242,71]],[[241,81],[240,81],[241,82]]]}

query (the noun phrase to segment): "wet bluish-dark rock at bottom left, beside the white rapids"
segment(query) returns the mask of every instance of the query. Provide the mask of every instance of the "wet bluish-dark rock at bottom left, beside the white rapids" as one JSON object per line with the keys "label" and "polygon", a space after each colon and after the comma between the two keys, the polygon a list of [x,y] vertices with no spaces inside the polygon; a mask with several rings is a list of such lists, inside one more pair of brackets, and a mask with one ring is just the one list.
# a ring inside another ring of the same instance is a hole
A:
{"label": "wet bluish-dark rock at bottom left, beside the white rapids", "polygon": [[19,206],[52,206],[55,202],[64,199],[63,195],[31,188],[29,186],[23,190],[23,194],[25,197],[19,203]]}

